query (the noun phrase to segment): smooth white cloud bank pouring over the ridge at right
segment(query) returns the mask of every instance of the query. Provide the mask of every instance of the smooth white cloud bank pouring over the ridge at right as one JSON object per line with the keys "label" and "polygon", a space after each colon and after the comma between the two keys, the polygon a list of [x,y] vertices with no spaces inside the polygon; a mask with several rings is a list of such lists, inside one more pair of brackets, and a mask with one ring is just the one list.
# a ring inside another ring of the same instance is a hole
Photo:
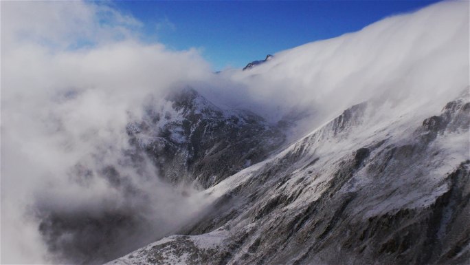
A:
{"label": "smooth white cloud bank pouring over the ridge at right", "polygon": [[254,108],[273,121],[295,109],[308,112],[313,120],[307,131],[372,98],[397,109],[432,109],[469,85],[468,10],[467,1],[436,3],[285,50],[251,70],[226,71],[207,94]]}

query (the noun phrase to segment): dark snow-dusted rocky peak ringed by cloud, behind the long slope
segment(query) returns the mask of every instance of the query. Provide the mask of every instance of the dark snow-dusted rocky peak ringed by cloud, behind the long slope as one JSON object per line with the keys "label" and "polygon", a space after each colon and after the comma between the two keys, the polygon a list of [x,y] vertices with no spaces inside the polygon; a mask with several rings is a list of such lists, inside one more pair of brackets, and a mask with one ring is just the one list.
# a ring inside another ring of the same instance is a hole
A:
{"label": "dark snow-dusted rocky peak ringed by cloud, behind the long slope", "polygon": [[216,107],[194,89],[148,107],[143,120],[127,127],[137,153],[144,150],[172,183],[208,188],[267,158],[282,145],[282,131],[251,112]]}

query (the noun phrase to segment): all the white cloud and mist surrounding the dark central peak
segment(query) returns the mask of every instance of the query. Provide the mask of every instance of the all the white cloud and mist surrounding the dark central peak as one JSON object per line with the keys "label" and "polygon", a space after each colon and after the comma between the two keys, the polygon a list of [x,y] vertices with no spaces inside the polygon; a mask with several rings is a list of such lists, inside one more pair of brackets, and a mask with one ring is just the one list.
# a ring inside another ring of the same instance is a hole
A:
{"label": "all the white cloud and mist surrounding the dark central peak", "polygon": [[427,115],[468,90],[468,10],[437,3],[214,74],[197,49],[141,41],[142,23],[106,4],[2,2],[1,263],[106,262],[197,217],[210,198],[164,182],[129,144],[148,98],[194,87],[293,120],[293,139],[366,100],[383,118]]}

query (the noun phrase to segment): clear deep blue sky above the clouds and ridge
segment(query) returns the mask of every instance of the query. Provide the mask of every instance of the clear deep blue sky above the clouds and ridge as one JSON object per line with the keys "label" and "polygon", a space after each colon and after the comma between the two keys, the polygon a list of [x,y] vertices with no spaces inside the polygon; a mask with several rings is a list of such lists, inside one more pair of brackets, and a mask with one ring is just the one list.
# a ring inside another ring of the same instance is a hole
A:
{"label": "clear deep blue sky above the clouds and ridge", "polygon": [[214,70],[360,30],[436,1],[115,1],[144,23],[146,41],[201,49]]}

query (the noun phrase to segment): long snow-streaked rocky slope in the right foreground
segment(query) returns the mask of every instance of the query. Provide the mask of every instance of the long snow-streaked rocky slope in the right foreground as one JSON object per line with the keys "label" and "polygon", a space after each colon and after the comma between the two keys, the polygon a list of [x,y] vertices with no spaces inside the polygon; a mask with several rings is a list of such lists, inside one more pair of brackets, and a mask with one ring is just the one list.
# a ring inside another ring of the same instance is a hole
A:
{"label": "long snow-streaked rocky slope in the right foreground", "polygon": [[109,264],[468,264],[469,120],[468,94],[425,120],[355,105],[205,190],[182,235]]}

